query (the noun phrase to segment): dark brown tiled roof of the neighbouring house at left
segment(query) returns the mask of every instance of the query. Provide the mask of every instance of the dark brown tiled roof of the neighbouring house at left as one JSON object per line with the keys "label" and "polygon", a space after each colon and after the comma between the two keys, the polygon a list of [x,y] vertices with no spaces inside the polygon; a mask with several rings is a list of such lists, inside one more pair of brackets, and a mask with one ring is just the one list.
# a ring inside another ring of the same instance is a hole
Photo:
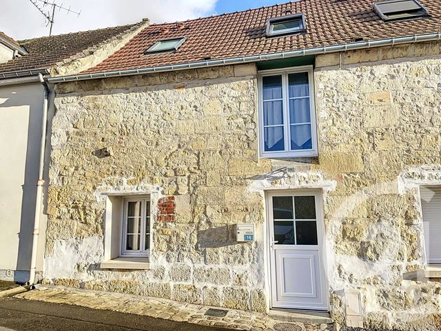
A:
{"label": "dark brown tiled roof of the neighbouring house at left", "polygon": [[29,54],[6,63],[0,63],[0,73],[51,68],[61,61],[70,59],[75,54],[87,52],[92,46],[135,29],[141,23],[144,22],[18,41],[19,46],[25,48]]}

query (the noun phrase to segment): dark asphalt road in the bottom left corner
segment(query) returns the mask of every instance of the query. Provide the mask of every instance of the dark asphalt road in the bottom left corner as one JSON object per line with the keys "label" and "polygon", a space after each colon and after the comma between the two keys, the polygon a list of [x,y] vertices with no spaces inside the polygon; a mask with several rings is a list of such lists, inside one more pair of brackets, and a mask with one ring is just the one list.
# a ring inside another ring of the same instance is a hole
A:
{"label": "dark asphalt road in the bottom left corner", "polygon": [[[227,331],[110,310],[0,299],[0,331]],[[229,330],[231,331],[231,330]]]}

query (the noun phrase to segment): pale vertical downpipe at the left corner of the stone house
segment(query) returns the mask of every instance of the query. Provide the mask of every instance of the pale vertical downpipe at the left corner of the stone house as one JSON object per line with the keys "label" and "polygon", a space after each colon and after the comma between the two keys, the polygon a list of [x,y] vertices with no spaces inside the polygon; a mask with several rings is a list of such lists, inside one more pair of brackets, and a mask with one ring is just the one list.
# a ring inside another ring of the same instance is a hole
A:
{"label": "pale vertical downpipe at the left corner of the stone house", "polygon": [[48,121],[48,99],[49,87],[43,79],[43,75],[39,74],[39,80],[43,84],[43,119],[41,120],[41,143],[40,143],[40,162],[39,162],[39,177],[37,179],[37,198],[35,199],[35,216],[34,216],[34,232],[32,233],[32,256],[30,260],[30,277],[28,283],[30,285],[35,283],[35,272],[37,270],[37,250],[39,244],[39,229],[40,229],[40,215],[41,204],[43,203],[43,172],[44,172],[44,154],[46,148],[46,130],[48,128],[46,122]]}

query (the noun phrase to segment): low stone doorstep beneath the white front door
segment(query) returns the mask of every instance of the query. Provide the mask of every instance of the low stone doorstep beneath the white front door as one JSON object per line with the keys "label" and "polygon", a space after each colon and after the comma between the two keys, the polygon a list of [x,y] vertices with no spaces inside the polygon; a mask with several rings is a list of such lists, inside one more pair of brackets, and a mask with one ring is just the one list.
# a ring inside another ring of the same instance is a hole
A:
{"label": "low stone doorstep beneath the white front door", "polygon": [[277,321],[301,322],[314,324],[334,323],[329,312],[314,312],[310,310],[271,309],[269,317]]}

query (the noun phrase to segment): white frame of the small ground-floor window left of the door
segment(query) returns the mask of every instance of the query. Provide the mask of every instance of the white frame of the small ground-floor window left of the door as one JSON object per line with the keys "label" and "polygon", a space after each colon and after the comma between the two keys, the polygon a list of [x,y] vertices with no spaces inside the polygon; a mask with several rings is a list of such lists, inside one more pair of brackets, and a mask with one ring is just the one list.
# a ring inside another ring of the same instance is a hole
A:
{"label": "white frame of the small ground-floor window left of the door", "polygon": [[[141,239],[139,247],[141,250],[126,250],[127,243],[127,214],[128,214],[128,205],[129,202],[138,202],[141,201]],[[149,249],[145,250],[145,227],[147,226],[147,202],[150,203],[149,210]],[[149,257],[150,256],[150,248],[152,247],[152,204],[150,201],[150,197],[125,197],[123,199],[123,221],[121,222],[121,257]]]}

